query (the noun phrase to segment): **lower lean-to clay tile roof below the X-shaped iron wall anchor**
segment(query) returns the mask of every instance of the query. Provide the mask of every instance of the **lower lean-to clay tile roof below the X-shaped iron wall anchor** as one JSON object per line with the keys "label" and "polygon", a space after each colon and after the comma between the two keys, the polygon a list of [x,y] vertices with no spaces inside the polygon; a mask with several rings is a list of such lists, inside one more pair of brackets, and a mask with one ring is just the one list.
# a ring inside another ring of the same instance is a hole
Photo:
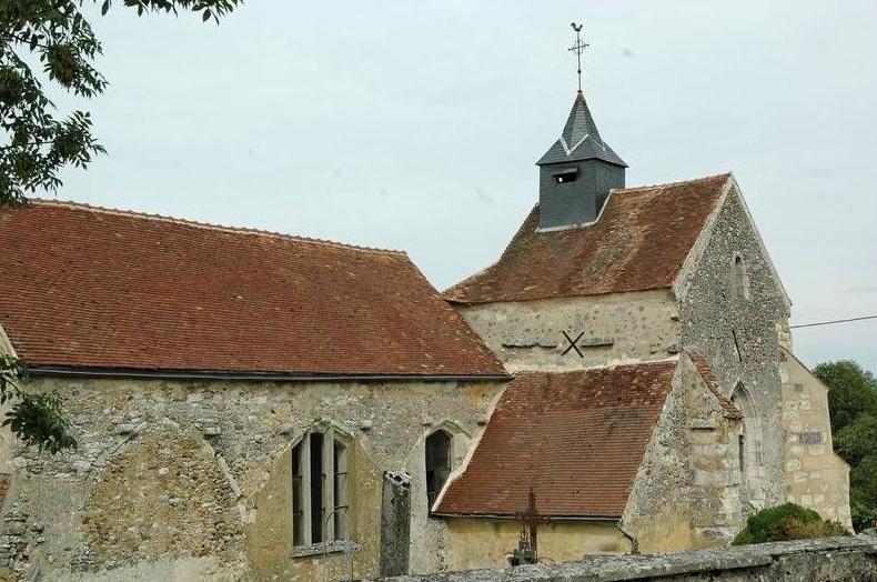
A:
{"label": "lower lean-to clay tile roof below the X-shaped iron wall anchor", "polygon": [[436,511],[514,515],[532,485],[542,515],[621,516],[675,368],[516,374]]}

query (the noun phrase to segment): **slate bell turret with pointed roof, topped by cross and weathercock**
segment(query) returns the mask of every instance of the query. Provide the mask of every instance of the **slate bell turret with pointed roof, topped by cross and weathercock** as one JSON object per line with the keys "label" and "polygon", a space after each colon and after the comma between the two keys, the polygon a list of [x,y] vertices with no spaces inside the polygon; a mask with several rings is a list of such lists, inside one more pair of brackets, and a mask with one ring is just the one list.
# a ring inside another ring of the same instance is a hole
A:
{"label": "slate bell turret with pointed roof, topped by cross and weathercock", "polygon": [[540,167],[540,229],[587,224],[597,220],[613,188],[624,188],[627,164],[603,141],[582,93],[581,26],[573,24],[578,57],[578,92],[566,126]]}

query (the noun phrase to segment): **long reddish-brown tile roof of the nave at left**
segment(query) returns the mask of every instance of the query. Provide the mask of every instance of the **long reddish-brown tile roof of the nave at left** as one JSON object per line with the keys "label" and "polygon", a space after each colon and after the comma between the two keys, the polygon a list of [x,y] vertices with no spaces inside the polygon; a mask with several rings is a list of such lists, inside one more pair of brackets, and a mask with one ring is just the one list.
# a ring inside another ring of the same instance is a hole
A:
{"label": "long reddish-brown tile roof of the nave at left", "polygon": [[0,250],[31,367],[504,374],[402,252],[48,201],[0,210]]}

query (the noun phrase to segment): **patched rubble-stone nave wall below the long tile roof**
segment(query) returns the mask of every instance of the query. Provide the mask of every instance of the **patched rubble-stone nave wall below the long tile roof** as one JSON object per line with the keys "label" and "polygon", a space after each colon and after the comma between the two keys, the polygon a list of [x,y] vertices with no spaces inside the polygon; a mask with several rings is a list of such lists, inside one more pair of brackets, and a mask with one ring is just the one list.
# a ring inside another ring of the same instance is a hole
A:
{"label": "patched rubble-stone nave wall below the long tile roof", "polygon": [[[335,580],[351,565],[356,576],[377,572],[385,470],[413,478],[412,571],[440,568],[443,524],[426,520],[424,439],[451,432],[461,462],[502,384],[37,378],[28,389],[64,394],[79,448],[12,450],[0,521],[6,575],[110,580],[133,568],[150,578],[154,563],[152,579],[202,569],[215,580]],[[354,544],[293,558],[291,449],[317,421],[352,439]]]}

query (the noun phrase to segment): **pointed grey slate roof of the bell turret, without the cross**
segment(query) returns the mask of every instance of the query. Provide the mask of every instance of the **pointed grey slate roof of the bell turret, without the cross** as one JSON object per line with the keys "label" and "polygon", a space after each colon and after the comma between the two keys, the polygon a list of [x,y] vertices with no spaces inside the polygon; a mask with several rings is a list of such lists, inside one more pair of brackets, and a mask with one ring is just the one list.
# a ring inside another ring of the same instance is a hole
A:
{"label": "pointed grey slate roof of the bell turret, without the cross", "polygon": [[582,91],[578,91],[561,138],[554,142],[536,164],[543,165],[546,163],[592,159],[627,168],[624,160],[612,151],[612,148],[599,137],[597,124],[594,122],[591,110],[587,108],[585,96]]}

